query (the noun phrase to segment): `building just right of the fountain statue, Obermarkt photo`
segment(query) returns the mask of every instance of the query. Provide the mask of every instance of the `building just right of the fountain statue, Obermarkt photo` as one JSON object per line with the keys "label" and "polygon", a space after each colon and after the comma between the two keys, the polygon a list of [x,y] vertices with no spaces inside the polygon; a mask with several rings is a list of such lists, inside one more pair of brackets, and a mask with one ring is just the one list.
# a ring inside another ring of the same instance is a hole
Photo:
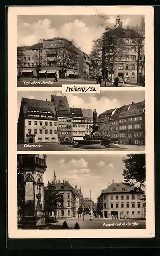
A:
{"label": "building just right of the fountain statue, Obermarkt photo", "polygon": [[99,132],[101,135],[108,134],[110,135],[111,129],[110,129],[110,118],[111,116],[115,113],[115,109],[111,110],[106,110],[105,112],[101,113],[98,116],[98,125],[99,127]]}

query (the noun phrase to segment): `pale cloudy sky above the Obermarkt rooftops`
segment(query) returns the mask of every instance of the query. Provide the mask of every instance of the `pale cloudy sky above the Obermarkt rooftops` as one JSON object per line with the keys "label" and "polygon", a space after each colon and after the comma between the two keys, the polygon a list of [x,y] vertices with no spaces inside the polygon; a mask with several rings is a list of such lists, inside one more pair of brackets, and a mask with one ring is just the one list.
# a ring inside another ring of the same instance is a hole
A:
{"label": "pale cloudy sky above the Obermarkt rooftops", "polygon": [[17,117],[21,99],[39,99],[51,101],[51,95],[66,96],[70,107],[96,109],[97,114],[119,106],[140,102],[145,99],[144,91],[101,91],[100,94],[62,94],[60,91],[18,91]]}

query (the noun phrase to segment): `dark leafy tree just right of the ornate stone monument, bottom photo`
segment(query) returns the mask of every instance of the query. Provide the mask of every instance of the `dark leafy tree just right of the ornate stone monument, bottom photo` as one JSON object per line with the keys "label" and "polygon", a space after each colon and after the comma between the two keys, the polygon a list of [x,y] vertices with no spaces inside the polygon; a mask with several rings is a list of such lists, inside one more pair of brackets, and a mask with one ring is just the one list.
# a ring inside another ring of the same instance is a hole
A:
{"label": "dark leafy tree just right of the ornate stone monument, bottom photo", "polygon": [[63,197],[59,191],[54,190],[54,184],[48,183],[44,188],[44,210],[48,218],[49,212],[63,208]]}

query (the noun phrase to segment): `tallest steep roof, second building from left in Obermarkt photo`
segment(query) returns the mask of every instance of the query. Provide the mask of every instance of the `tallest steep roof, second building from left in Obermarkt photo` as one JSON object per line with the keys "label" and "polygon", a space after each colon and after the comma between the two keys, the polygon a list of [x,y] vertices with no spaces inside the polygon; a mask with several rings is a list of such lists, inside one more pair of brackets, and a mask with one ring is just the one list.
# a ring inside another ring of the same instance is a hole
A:
{"label": "tallest steep roof, second building from left in Obermarkt photo", "polygon": [[51,101],[55,104],[55,109],[58,116],[72,117],[66,96],[51,95]]}

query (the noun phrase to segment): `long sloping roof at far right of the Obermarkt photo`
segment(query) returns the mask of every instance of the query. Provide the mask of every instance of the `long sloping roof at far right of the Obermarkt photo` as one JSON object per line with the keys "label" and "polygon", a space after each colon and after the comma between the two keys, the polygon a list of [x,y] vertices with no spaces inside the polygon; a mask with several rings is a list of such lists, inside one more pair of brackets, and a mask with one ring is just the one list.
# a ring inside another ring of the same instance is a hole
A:
{"label": "long sloping roof at far right of the Obermarkt photo", "polygon": [[139,115],[144,113],[144,111],[145,111],[145,101],[141,101],[137,103],[132,102],[132,104],[124,107],[124,109],[119,114],[119,117]]}

